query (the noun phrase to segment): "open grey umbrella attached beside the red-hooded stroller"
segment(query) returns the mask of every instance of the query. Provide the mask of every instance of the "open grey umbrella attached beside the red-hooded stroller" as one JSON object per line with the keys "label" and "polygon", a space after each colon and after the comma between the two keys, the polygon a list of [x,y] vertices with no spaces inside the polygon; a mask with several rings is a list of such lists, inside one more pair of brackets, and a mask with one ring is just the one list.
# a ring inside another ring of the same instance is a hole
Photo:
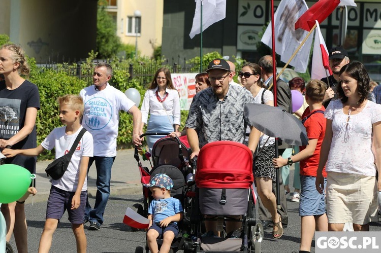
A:
{"label": "open grey umbrella attached beside the red-hooded stroller", "polygon": [[244,111],[253,127],[293,146],[305,146],[308,137],[302,122],[281,107],[260,103],[248,103]]}

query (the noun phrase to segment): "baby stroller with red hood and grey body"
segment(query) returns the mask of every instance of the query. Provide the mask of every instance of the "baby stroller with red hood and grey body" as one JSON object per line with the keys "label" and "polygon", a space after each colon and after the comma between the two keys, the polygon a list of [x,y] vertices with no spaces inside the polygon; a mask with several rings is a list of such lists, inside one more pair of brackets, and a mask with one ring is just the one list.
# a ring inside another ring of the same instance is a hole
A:
{"label": "baby stroller with red hood and grey body", "polygon": [[238,142],[210,142],[200,150],[195,177],[200,216],[217,221],[217,231],[222,231],[224,222],[240,222],[242,226],[235,238],[221,238],[201,236],[200,224],[197,238],[185,242],[184,252],[261,252],[263,227],[255,218],[251,151]]}

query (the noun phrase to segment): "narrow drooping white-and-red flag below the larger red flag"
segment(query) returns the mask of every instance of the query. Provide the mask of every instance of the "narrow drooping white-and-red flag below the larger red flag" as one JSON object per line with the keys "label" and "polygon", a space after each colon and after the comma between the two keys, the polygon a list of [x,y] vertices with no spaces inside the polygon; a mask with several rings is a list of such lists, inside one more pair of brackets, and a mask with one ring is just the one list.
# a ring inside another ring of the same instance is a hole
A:
{"label": "narrow drooping white-and-red flag below the larger red flag", "polygon": [[329,54],[322,32],[320,31],[319,22],[317,22],[317,20],[315,20],[315,22],[316,32],[315,42],[313,44],[311,78],[320,80],[332,75],[332,70],[329,67]]}

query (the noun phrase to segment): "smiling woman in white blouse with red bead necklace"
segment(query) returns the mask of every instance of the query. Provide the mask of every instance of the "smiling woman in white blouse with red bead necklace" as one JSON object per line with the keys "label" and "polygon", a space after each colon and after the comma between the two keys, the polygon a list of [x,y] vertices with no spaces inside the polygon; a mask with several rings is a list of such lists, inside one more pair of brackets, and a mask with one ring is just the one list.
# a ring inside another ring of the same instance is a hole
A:
{"label": "smiling woman in white blouse with red bead necklace", "polygon": [[[168,68],[161,67],[156,71],[149,89],[144,94],[141,107],[142,122],[147,124],[147,132],[178,132],[180,127],[180,98],[174,88]],[[143,124],[141,130],[143,131]],[[147,136],[149,152],[153,144],[163,136]]]}

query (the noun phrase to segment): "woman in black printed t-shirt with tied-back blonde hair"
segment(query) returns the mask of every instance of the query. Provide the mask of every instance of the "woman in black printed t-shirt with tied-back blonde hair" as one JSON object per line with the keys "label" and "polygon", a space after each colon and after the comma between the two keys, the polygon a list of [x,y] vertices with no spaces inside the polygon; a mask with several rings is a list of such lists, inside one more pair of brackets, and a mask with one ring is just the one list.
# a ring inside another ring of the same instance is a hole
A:
{"label": "woman in black printed t-shirt with tied-back blonde hair", "polygon": [[[37,146],[36,118],[40,94],[35,84],[20,75],[29,75],[29,66],[20,46],[6,44],[0,48],[0,150],[30,149]],[[20,165],[36,172],[36,157],[16,156],[5,163]],[[7,241],[13,230],[18,252],[27,252],[27,231],[23,202],[2,204],[7,223]]]}

